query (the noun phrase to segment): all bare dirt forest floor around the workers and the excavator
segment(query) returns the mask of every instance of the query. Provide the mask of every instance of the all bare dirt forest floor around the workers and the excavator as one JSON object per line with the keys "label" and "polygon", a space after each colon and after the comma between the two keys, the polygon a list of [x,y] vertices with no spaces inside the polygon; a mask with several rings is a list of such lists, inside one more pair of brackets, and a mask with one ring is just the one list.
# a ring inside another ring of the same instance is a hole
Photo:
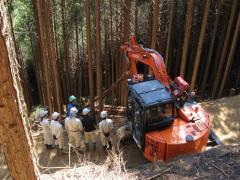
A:
{"label": "all bare dirt forest floor around the workers and the excavator", "polygon": [[[149,163],[144,159],[142,152],[138,149],[132,139],[127,139],[120,146],[123,161],[127,171],[134,172],[135,178],[153,178],[161,175],[161,179],[237,179],[240,177],[240,153],[237,146],[239,144],[239,117],[240,117],[240,96],[222,98],[215,101],[203,102],[202,106],[209,112],[212,122],[212,129],[225,145],[211,148],[205,153],[191,156],[183,156],[175,159],[171,163],[159,162]],[[114,118],[115,129],[124,124],[124,119]],[[65,134],[65,138],[66,134]],[[97,149],[90,150],[86,154],[77,152],[69,155],[59,155],[56,149],[46,150],[42,143],[42,135],[35,134],[34,144],[39,157],[40,172],[52,175],[58,167],[74,167],[74,164],[92,162],[101,166],[109,156],[108,152],[102,149],[100,142],[97,142]],[[116,141],[116,137],[113,138]],[[1,173],[0,179],[10,179],[0,155]],[[4,167],[4,168],[3,168]],[[57,168],[56,168],[57,167]],[[156,170],[157,169],[157,170]],[[61,170],[62,171],[62,170]],[[162,173],[162,174],[161,174]],[[50,177],[48,177],[50,178]]]}

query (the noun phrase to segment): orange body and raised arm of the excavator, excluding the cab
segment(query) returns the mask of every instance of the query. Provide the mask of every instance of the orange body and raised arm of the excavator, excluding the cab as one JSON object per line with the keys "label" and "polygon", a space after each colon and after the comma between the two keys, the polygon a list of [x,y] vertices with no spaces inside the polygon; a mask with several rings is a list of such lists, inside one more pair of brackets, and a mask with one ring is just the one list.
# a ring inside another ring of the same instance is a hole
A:
{"label": "orange body and raised arm of the excavator, excluding the cab", "polygon": [[[167,74],[163,58],[158,52],[143,48],[137,44],[135,37],[131,38],[130,43],[122,45],[121,49],[126,53],[132,78],[138,75],[137,63],[144,63],[150,67],[154,79],[159,80],[170,93],[174,94],[170,87],[172,81]],[[188,86],[181,81],[184,80],[176,79],[176,82],[182,83],[183,87]],[[180,94],[182,95],[182,93]],[[178,96],[176,96],[177,98]],[[144,156],[150,161],[169,161],[181,154],[203,151],[208,142],[209,132],[208,113],[197,103],[184,103],[175,109],[174,121],[171,126],[144,134],[142,150]]]}

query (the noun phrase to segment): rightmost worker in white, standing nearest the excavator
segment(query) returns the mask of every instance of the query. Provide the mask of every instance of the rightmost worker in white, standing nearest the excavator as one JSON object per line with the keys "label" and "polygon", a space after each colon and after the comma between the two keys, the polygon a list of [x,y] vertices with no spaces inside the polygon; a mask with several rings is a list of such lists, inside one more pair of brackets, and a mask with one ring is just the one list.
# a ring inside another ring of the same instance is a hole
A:
{"label": "rightmost worker in white, standing nearest the excavator", "polygon": [[107,118],[107,111],[100,113],[101,122],[99,123],[99,130],[101,133],[101,142],[104,149],[112,149],[111,132],[113,129],[113,123],[111,119]]}

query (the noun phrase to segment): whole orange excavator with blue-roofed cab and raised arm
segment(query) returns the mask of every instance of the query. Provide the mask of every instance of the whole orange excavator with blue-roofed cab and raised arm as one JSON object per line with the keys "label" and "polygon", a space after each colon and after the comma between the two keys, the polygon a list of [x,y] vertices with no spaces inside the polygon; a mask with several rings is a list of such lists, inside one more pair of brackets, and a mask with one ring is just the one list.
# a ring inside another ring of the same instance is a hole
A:
{"label": "whole orange excavator with blue-roofed cab and raised arm", "polygon": [[[162,56],[143,48],[135,36],[121,50],[130,73],[127,118],[145,158],[169,161],[178,155],[203,151],[211,131],[210,119],[194,101],[189,84],[180,76],[172,81]],[[145,76],[144,66],[150,69]]]}

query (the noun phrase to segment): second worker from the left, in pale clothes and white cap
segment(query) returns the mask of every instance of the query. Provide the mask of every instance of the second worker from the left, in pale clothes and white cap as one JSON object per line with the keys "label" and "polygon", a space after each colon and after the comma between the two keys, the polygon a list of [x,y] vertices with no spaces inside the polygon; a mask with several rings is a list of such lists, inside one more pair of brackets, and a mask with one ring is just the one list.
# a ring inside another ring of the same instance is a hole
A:
{"label": "second worker from the left, in pale clothes and white cap", "polygon": [[60,113],[54,112],[52,114],[52,121],[50,125],[51,133],[55,141],[55,145],[58,145],[59,152],[63,152],[64,138],[63,138],[63,127],[60,123]]}

